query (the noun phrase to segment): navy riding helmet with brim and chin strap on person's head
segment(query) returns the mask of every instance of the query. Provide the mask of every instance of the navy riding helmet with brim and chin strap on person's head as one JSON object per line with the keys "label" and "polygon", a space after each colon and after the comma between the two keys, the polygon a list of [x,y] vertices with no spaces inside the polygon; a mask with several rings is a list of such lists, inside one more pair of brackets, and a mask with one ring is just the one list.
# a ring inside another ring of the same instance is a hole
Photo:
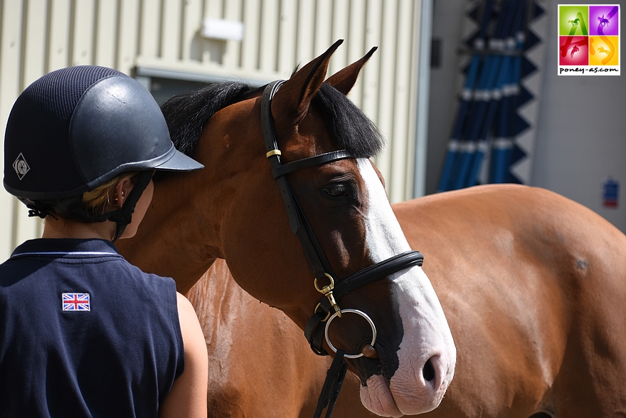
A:
{"label": "navy riding helmet with brim and chin strap on person's head", "polygon": [[[4,188],[31,209],[83,221],[117,223],[117,239],[152,170],[191,171],[202,164],[178,152],[161,109],[137,81],[98,66],[55,70],[16,100],[4,135]],[[83,193],[139,170],[122,209],[97,215]],[[114,239],[114,241],[115,241]]]}

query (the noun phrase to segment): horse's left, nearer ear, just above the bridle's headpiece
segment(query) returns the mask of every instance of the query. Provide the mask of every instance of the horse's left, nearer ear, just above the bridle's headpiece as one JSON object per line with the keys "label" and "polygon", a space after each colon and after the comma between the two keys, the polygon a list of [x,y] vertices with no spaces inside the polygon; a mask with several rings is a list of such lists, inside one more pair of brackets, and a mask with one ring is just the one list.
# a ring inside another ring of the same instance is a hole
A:
{"label": "horse's left, nearer ear, just above the bridle's headpiece", "polygon": [[321,56],[297,70],[289,80],[285,81],[272,100],[272,113],[289,115],[295,111],[297,117],[304,115],[313,95],[324,83],[330,57],[343,42],[343,39],[339,39],[333,43]]}

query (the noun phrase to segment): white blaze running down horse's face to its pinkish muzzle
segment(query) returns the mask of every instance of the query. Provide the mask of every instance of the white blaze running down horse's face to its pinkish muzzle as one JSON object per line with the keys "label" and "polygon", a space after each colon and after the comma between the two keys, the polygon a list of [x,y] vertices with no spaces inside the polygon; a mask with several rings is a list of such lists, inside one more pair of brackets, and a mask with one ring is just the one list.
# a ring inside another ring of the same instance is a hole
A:
{"label": "white blaze running down horse's face to its pinkish muzzle", "polygon": [[[366,245],[373,261],[410,251],[371,162],[359,159],[357,164],[368,194]],[[361,400],[378,415],[400,417],[437,407],[454,375],[456,349],[439,299],[422,268],[413,267],[390,278],[403,327],[399,366],[391,385],[382,375],[370,377],[367,386],[361,387]],[[422,372],[429,359],[435,369],[435,379],[430,382]]]}

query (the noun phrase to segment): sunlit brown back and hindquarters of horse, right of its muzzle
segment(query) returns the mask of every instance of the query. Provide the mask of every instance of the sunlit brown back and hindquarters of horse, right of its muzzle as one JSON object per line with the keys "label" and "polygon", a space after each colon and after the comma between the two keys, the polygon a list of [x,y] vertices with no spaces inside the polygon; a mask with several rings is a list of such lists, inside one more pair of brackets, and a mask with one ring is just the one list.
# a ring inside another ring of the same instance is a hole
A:
{"label": "sunlit brown back and hindquarters of horse, right of its muzzle", "polygon": [[626,410],[626,236],[545,189],[489,185],[393,207],[440,298],[457,369],[433,416]]}

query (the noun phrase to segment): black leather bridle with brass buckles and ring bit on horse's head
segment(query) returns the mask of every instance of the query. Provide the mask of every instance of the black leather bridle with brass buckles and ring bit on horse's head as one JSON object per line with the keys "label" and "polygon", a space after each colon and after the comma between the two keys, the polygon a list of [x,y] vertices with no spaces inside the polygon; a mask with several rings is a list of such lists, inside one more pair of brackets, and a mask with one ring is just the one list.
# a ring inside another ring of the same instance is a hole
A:
{"label": "black leather bridle with brass buckles and ring bit on horse's head", "polygon": [[[285,81],[276,80],[265,87],[261,99],[261,124],[263,130],[263,140],[265,141],[266,157],[270,160],[270,164],[272,166],[272,177],[274,177],[278,183],[280,195],[282,196],[282,201],[285,204],[285,209],[287,210],[287,217],[289,219],[291,231],[294,234],[297,234],[300,243],[302,244],[304,255],[307,257],[307,261],[309,261],[309,265],[311,266],[315,277],[315,288],[317,288],[317,291],[324,295],[314,308],[314,313],[311,318],[309,318],[309,321],[304,328],[304,335],[307,337],[307,340],[309,341],[309,344],[315,354],[328,355],[328,352],[322,348],[322,340],[324,335],[326,335],[329,347],[334,349],[334,346],[331,344],[328,337],[328,326],[331,323],[331,320],[333,320],[336,316],[341,318],[341,313],[356,313],[363,316],[371,325],[373,333],[371,345],[373,345],[376,340],[376,327],[372,320],[368,317],[368,315],[366,315],[366,313],[361,312],[361,310],[341,310],[341,308],[339,308],[341,298],[343,298],[347,293],[354,291],[356,288],[360,288],[367,283],[385,278],[393,273],[402,271],[405,268],[421,266],[424,256],[420,254],[419,251],[407,251],[403,254],[387,258],[386,260],[373,264],[372,266],[368,266],[360,271],[357,271],[356,273],[351,274],[341,281],[336,281],[336,275],[332,270],[328,259],[324,255],[324,251],[322,251],[319,241],[317,241],[313,229],[307,220],[307,216],[304,215],[302,207],[300,207],[300,204],[295,197],[290,182],[287,179],[287,174],[295,172],[299,169],[327,164],[329,162],[344,160],[346,158],[368,158],[369,156],[354,155],[347,150],[338,150],[282,164],[280,162],[281,152],[278,149],[272,117],[272,98],[282,83],[285,83]],[[330,284],[320,287],[320,282],[330,282]],[[325,326],[320,326],[322,323],[325,323]],[[324,382],[322,395],[319,397],[317,410],[314,415],[315,418],[322,414],[322,409],[324,409],[327,404],[328,410],[326,417],[329,418],[331,416],[332,409],[334,408],[334,402],[336,402],[336,397],[339,395],[341,384],[344,380],[344,376],[346,375],[347,363],[346,360],[344,360],[344,356],[356,358],[361,357],[362,355],[346,355],[346,353],[342,350],[334,349],[334,351],[336,351],[336,355],[329,371],[327,372],[327,380]]]}

